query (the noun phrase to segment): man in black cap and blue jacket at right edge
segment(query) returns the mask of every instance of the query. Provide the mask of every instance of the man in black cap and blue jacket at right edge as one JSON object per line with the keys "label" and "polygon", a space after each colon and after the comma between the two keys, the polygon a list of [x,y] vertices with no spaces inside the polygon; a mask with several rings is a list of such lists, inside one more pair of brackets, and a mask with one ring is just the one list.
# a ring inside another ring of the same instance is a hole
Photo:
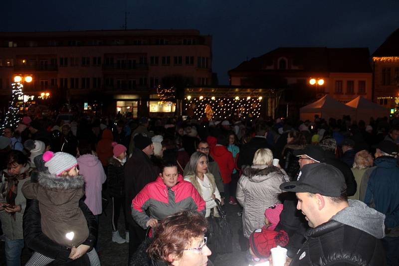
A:
{"label": "man in black cap and blue jacket at right edge", "polygon": [[383,140],[376,148],[377,166],[367,182],[364,202],[384,213],[387,236],[383,239],[388,265],[399,265],[399,167],[398,146]]}

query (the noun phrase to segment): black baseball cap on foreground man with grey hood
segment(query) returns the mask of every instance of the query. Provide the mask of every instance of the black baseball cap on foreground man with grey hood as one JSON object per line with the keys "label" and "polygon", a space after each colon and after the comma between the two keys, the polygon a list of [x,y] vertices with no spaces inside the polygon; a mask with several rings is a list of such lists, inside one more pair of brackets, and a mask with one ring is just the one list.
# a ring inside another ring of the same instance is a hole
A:
{"label": "black baseball cap on foreground man with grey hood", "polygon": [[326,163],[310,163],[302,167],[298,181],[285,182],[281,190],[309,192],[327,197],[339,197],[346,192],[345,177],[340,170]]}

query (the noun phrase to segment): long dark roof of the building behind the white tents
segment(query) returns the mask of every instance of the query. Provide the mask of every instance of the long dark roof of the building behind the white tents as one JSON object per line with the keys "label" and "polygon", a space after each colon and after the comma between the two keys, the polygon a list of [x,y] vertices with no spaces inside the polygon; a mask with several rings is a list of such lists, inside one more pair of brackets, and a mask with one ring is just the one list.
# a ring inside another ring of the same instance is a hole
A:
{"label": "long dark roof of the building behind the white tents", "polygon": [[306,72],[372,72],[368,48],[280,47],[264,55],[244,61],[230,72],[276,71],[267,68],[285,57],[296,69],[281,71]]}

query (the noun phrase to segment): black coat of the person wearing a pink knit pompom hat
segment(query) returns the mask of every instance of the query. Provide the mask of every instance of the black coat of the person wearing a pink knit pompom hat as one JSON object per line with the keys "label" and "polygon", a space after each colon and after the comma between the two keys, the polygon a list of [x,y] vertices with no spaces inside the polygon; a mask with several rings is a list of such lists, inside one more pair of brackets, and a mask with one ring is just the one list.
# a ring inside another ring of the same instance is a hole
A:
{"label": "black coat of the person wearing a pink knit pompom hat", "polygon": [[125,197],[125,172],[124,165],[114,157],[108,160],[108,193],[110,197]]}

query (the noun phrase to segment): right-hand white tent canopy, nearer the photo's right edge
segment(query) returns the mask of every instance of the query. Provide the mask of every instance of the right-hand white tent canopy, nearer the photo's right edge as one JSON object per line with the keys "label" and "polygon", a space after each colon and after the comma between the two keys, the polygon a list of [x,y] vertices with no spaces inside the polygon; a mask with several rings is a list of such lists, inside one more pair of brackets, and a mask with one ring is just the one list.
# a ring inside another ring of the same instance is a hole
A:
{"label": "right-hand white tent canopy, nearer the photo's right edge", "polygon": [[366,125],[368,125],[371,117],[376,119],[389,115],[387,108],[373,103],[372,101],[369,101],[361,96],[358,96],[346,105],[356,108],[356,117],[354,117],[353,119],[356,119],[357,121],[363,120],[364,122],[366,122]]}

